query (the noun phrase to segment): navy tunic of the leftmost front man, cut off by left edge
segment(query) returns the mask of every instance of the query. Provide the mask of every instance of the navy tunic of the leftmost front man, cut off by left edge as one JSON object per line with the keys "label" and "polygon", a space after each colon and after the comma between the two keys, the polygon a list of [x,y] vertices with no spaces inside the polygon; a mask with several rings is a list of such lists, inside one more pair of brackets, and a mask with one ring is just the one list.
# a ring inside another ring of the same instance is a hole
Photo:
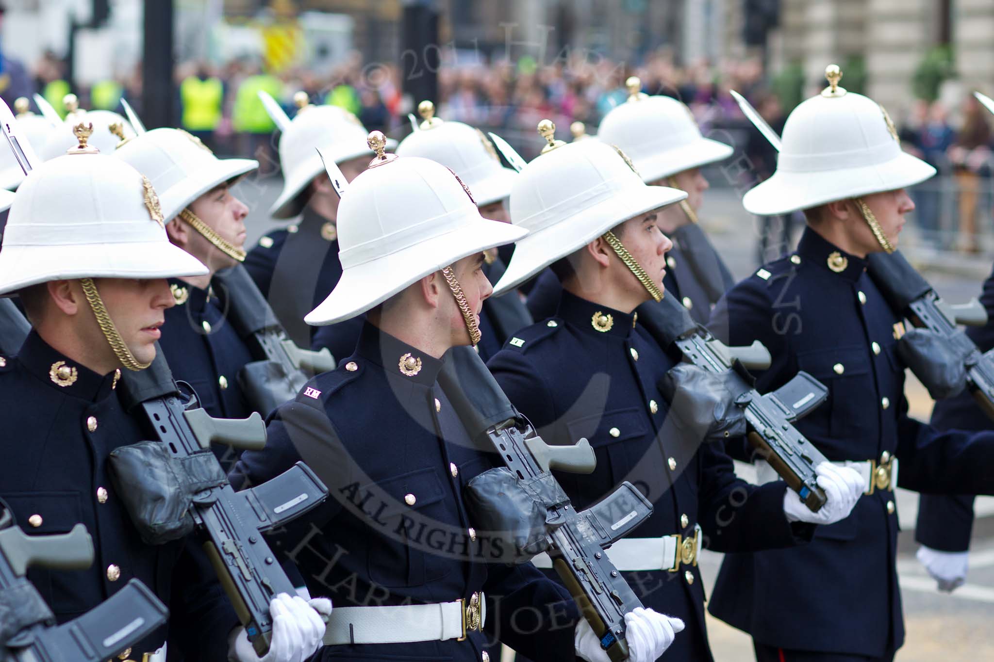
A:
{"label": "navy tunic of the leftmost front man, cut off by left edge", "polygon": [[[107,473],[111,451],[150,438],[123,411],[115,374],[92,372],[35,331],[16,358],[4,357],[2,363],[0,397],[8,434],[0,497],[29,535],[67,533],[82,522],[93,539],[88,570],[28,571],[59,622],[81,615],[136,578],[169,607],[171,660],[180,654],[187,662],[227,659],[228,634],[238,619],[200,545],[190,537],[154,547],[142,543]],[[75,376],[65,386],[50,376],[63,366]],[[37,527],[29,523],[32,515],[41,518]],[[136,644],[138,659],[166,638],[162,627]]]}

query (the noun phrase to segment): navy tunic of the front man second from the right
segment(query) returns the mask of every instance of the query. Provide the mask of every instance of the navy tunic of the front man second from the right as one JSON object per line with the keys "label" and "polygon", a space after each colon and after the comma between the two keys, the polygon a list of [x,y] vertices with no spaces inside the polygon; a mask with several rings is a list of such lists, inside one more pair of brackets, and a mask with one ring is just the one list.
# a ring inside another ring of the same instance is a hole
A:
{"label": "navy tunic of the front man second from the right", "polygon": [[[611,316],[607,331],[594,328],[596,313]],[[593,473],[557,472],[578,508],[623,480],[653,502],[652,515],[631,538],[693,536],[698,523],[705,546],[720,551],[787,547],[809,538],[812,526],[787,523],[783,483],[745,483],[720,446],[684,439],[668,422],[658,384],[673,365],[634,316],[565,291],[557,317],[518,331],[488,364],[546,442],[589,440],[597,458]],[[696,565],[624,576],[646,606],[687,624],[661,659],[711,659]]]}

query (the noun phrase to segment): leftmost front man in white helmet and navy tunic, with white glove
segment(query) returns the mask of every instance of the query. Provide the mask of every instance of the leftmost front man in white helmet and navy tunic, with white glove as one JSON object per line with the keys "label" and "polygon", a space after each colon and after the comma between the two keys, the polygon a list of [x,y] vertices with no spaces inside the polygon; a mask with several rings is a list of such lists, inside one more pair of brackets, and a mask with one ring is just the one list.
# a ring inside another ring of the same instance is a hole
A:
{"label": "leftmost front man in white helmet and navy tunic, with white glove", "polygon": [[[19,189],[0,251],[0,293],[17,293],[34,330],[16,356],[0,357],[0,389],[13,431],[0,495],[29,533],[83,522],[97,561],[87,571],[30,570],[62,622],[141,580],[170,607],[170,659],[257,662],[230,602],[192,538],[141,542],[108,473],[111,451],[144,439],[117,382],[155,357],[166,278],[207,269],[169,243],[159,201],[136,170],[86,145],[40,165]],[[15,441],[16,440],[16,443]],[[270,603],[278,625],[266,662],[298,662],[323,627],[299,597]],[[166,628],[129,659],[163,662]],[[178,655],[177,655],[178,653]]]}

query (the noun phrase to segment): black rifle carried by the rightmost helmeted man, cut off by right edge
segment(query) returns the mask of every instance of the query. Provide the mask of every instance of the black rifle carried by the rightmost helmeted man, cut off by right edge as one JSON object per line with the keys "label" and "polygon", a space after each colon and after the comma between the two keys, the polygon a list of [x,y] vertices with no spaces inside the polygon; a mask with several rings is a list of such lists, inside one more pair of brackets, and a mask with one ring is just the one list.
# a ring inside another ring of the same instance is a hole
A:
{"label": "black rifle carried by the rightmost helmeted man, cut off by right edge", "polygon": [[[965,378],[973,398],[987,416],[994,418],[994,350],[982,354],[968,335],[956,329],[957,324],[974,327],[987,324],[987,312],[980,302],[973,299],[967,304],[952,306],[942,301],[901,251],[872,253],[867,258],[867,273],[894,310],[905,316],[912,326],[930,331],[937,337],[948,350],[947,360],[961,363],[957,367],[965,373],[961,376]],[[895,337],[899,335],[900,331],[896,330]],[[930,375],[919,374],[920,368],[925,365],[919,365],[914,360],[908,362],[912,372],[925,386],[930,386]],[[929,393],[934,390],[929,388]],[[941,394],[933,397],[951,395],[952,390],[940,388]]]}

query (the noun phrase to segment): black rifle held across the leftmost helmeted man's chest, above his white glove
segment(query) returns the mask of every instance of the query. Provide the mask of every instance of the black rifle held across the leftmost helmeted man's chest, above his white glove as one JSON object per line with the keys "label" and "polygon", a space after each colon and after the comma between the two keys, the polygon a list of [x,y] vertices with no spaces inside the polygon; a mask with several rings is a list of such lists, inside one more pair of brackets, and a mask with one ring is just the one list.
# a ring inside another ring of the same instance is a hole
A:
{"label": "black rifle held across the leftmost helmeted man's chest, above his white glove", "polygon": [[[196,456],[204,462],[200,452],[212,443],[250,450],[265,446],[265,426],[257,413],[245,420],[213,419],[203,409],[188,409],[158,347],[148,368],[122,375],[118,390],[128,411],[144,415],[173,458]],[[217,463],[209,451],[207,456]],[[193,499],[191,512],[204,549],[259,656],[269,649],[270,600],[281,593],[295,595],[261,534],[309,511],[327,495],[317,475],[296,463],[250,489],[236,492],[225,480]]]}

